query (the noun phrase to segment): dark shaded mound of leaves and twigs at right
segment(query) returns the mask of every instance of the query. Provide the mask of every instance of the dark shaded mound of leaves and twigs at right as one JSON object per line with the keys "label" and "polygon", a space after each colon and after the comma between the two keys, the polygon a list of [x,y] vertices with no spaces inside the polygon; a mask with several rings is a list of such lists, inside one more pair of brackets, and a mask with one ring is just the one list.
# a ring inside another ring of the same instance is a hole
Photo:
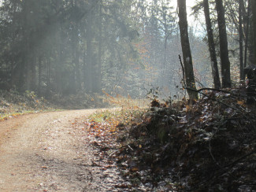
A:
{"label": "dark shaded mound of leaves and twigs at right", "polygon": [[115,157],[123,176],[157,191],[255,191],[256,110],[239,90],[152,107]]}

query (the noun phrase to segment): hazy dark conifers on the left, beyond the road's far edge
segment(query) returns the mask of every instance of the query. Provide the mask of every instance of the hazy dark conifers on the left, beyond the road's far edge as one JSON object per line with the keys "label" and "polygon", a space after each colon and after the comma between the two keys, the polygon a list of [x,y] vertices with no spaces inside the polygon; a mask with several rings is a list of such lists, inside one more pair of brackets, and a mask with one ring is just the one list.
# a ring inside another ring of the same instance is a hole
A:
{"label": "hazy dark conifers on the left, beyond the road's far edge", "polygon": [[[132,1],[6,0],[2,2],[2,83],[19,91],[99,92],[118,80],[135,52]],[[111,71],[111,72],[110,72]]]}

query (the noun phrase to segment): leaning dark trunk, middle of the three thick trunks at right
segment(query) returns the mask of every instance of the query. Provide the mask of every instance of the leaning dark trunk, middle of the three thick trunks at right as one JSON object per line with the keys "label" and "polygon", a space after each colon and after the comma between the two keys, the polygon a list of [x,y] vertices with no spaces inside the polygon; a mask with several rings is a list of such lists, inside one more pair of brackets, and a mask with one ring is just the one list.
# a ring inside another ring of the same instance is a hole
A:
{"label": "leaning dark trunk, middle of the three thick trunks at right", "polygon": [[208,36],[208,46],[210,51],[212,74],[213,74],[213,84],[214,84],[214,88],[219,89],[221,88],[221,80],[219,75],[219,69],[217,67],[217,57],[216,57],[215,44],[213,39],[213,28],[210,20],[210,9],[209,9],[208,0],[203,0],[203,8],[204,8],[204,13],[206,17],[206,29],[207,29],[207,36]]}

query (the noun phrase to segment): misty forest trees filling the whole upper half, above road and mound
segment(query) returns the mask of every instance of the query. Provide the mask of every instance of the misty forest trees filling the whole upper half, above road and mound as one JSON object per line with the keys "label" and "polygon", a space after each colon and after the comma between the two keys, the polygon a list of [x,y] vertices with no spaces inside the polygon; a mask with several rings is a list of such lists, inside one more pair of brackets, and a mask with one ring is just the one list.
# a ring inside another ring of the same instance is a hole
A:
{"label": "misty forest trees filling the whole upper half, above road and mound", "polygon": [[231,87],[239,72],[244,79],[255,61],[254,1],[198,1],[205,36],[187,26],[186,1],[175,1],[178,9],[168,0],[2,1],[0,89],[138,96],[158,86],[175,94],[179,54],[188,87]]}

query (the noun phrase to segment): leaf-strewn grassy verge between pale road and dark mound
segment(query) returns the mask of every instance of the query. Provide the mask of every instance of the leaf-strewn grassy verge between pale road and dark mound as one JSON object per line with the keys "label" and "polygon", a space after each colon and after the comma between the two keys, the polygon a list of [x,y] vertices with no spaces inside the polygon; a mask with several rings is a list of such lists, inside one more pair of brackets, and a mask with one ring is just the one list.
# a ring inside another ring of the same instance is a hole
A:
{"label": "leaf-strewn grassy verge between pale road and dark mound", "polygon": [[[98,189],[102,191],[135,190],[136,186],[118,174],[117,153],[119,150],[129,148],[117,138],[124,140],[128,134],[125,124],[141,119],[142,110],[111,109],[95,113],[83,120],[81,130],[85,131],[84,142],[89,143],[93,149],[94,158],[91,161],[91,171],[98,175],[95,177]],[[135,187],[135,188],[134,188]]]}

